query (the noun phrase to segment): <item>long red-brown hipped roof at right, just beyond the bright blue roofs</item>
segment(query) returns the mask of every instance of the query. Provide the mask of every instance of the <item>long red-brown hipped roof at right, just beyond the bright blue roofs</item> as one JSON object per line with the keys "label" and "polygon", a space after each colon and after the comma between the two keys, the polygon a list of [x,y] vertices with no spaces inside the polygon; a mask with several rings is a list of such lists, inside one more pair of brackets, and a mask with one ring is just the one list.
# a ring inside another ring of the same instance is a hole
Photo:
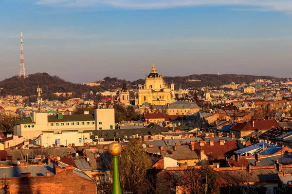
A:
{"label": "long red-brown hipped roof at right, just beyond the bright blue roofs", "polygon": [[[253,126],[253,123],[255,125]],[[242,131],[242,130],[268,130],[272,128],[280,128],[279,124],[275,120],[256,120],[249,121],[247,123],[237,123],[230,130]]]}

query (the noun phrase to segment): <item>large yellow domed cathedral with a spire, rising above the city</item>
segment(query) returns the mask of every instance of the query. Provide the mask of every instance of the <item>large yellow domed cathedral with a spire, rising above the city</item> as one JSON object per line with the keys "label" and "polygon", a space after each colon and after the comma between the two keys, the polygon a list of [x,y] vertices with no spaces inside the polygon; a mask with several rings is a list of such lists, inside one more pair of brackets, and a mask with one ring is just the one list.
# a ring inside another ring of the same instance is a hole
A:
{"label": "large yellow domed cathedral with a spire, rising above the city", "polygon": [[139,85],[135,105],[142,105],[145,102],[154,105],[166,105],[175,102],[171,89],[174,90],[174,83],[171,84],[171,88],[168,87],[162,75],[157,73],[153,61],[151,73],[146,75],[145,84]]}

